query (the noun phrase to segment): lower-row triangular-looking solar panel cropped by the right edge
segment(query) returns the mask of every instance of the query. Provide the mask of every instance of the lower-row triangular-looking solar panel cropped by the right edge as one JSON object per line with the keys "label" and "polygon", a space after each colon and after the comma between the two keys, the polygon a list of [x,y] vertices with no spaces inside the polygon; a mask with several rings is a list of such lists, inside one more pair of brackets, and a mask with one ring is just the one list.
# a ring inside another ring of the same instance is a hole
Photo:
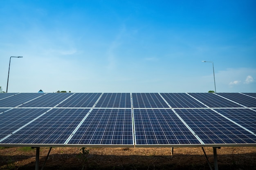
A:
{"label": "lower-row triangular-looking solar panel cropped by the right edge", "polygon": [[256,111],[250,109],[214,109],[256,134]]}

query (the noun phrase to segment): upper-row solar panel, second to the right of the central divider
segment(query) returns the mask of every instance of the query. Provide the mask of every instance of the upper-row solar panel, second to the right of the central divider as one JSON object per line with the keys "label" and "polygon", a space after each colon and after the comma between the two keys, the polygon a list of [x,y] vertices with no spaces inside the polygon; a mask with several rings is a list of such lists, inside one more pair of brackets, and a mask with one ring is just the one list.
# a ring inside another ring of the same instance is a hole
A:
{"label": "upper-row solar panel, second to the right of the central divider", "polygon": [[186,93],[160,93],[172,108],[205,108]]}

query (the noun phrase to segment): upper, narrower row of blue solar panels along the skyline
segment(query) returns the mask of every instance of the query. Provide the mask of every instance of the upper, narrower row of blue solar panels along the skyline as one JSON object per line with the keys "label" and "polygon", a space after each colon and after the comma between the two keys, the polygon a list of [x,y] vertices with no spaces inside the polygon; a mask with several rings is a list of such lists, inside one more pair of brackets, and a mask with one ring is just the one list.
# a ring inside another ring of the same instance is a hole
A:
{"label": "upper, narrower row of blue solar panels along the skyline", "polygon": [[0,107],[238,108],[256,93],[0,93]]}

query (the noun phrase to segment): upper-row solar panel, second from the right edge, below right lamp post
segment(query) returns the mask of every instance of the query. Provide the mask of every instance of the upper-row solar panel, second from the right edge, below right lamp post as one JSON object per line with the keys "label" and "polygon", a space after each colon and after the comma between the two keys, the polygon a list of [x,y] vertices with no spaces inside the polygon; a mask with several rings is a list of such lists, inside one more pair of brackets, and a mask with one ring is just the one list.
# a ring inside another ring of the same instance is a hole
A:
{"label": "upper-row solar panel, second from the right edge, below right lamp post", "polygon": [[234,102],[242,104],[246,107],[256,107],[256,98],[249,97],[240,93],[217,93],[220,96],[226,97]]}

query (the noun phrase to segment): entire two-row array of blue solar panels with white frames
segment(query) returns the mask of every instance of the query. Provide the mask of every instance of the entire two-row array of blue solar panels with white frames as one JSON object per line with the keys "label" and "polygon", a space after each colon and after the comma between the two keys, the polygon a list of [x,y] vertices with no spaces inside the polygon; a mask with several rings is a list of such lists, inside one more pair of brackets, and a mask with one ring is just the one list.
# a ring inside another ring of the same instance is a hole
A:
{"label": "entire two-row array of blue solar panels with white frames", "polygon": [[0,146],[256,146],[256,93],[0,93]]}

